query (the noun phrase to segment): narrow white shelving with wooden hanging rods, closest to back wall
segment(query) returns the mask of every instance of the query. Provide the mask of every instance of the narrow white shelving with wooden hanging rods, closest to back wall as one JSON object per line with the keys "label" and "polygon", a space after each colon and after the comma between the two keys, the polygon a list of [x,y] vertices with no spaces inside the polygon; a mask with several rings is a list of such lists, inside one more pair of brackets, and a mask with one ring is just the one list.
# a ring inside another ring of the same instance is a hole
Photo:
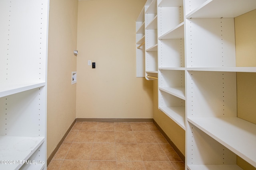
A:
{"label": "narrow white shelving with wooden hanging rods, closest to back wall", "polygon": [[157,0],[147,0],[136,20],[136,76],[158,77]]}

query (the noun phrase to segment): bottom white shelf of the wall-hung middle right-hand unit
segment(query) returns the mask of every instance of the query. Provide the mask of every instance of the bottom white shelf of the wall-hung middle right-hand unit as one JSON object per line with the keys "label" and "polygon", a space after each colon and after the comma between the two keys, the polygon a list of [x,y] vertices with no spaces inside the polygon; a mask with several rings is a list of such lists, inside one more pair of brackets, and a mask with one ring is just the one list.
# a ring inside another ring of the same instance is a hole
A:
{"label": "bottom white shelf of the wall-hung middle right-hand unit", "polygon": [[185,107],[159,106],[159,109],[185,130]]}

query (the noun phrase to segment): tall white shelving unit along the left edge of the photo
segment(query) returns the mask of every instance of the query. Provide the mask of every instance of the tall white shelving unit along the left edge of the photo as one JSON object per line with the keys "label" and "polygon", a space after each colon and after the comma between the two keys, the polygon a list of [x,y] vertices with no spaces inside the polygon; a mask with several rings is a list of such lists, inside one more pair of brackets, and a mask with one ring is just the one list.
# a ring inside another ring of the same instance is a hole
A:
{"label": "tall white shelving unit along the left edge of the photo", "polygon": [[0,169],[46,169],[48,6],[0,1]]}

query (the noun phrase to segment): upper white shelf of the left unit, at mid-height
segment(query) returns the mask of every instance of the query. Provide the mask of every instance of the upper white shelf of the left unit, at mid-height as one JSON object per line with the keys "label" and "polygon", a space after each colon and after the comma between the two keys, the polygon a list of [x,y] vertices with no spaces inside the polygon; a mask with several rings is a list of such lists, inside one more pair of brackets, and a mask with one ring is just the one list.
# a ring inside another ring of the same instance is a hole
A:
{"label": "upper white shelf of the left unit, at mid-height", "polygon": [[16,84],[0,84],[0,98],[9,96],[26,90],[45,86],[45,82],[38,83],[16,83]]}

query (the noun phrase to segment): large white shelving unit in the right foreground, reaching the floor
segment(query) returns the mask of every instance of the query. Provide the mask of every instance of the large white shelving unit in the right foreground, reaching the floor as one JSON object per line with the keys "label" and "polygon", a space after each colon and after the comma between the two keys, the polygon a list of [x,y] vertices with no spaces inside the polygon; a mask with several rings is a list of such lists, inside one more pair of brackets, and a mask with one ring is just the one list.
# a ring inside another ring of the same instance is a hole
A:
{"label": "large white shelving unit in the right foreground, reaching the floor", "polygon": [[256,167],[256,125],[237,117],[234,17],[254,0],[185,0],[186,166],[190,170]]}

